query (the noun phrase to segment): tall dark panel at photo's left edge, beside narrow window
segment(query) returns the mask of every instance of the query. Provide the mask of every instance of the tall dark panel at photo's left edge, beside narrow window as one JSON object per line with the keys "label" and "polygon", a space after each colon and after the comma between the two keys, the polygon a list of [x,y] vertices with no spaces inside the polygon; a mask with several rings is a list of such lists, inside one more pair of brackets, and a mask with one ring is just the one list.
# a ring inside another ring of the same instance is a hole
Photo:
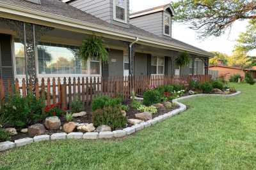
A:
{"label": "tall dark panel at photo's left edge, beside narrow window", "polygon": [[12,36],[0,34],[0,78],[7,85],[7,80],[14,80],[12,60]]}

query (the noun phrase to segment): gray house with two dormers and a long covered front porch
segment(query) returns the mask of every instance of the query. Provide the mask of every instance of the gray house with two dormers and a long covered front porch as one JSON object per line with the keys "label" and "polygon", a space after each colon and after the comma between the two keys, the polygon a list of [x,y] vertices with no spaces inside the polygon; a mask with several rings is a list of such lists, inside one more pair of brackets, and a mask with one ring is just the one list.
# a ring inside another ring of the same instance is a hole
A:
{"label": "gray house with two dormers and a long covered front porch", "polygon": [[[170,4],[129,14],[129,0],[0,0],[0,77],[207,74],[211,53],[172,38]],[[79,57],[100,36],[109,62]],[[191,57],[179,68],[175,58]]]}

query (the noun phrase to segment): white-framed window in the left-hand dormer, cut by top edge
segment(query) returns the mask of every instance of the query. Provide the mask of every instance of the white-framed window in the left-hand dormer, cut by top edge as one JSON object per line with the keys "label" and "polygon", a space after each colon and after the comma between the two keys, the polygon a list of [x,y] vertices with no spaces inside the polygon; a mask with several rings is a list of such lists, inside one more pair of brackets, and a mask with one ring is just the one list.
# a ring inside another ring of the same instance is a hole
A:
{"label": "white-framed window in the left-hand dormer, cut by top edge", "polygon": [[127,23],[127,0],[114,1],[114,20]]}

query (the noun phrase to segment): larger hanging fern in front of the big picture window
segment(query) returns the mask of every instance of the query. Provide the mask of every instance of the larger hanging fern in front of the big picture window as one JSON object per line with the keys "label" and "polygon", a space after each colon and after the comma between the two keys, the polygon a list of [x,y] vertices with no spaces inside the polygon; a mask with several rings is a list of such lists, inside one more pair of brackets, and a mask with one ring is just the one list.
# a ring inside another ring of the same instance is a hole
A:
{"label": "larger hanging fern in front of the big picture window", "polygon": [[102,38],[92,36],[89,39],[83,41],[81,46],[80,54],[82,59],[87,60],[91,57],[96,57],[102,62],[108,62],[108,51]]}

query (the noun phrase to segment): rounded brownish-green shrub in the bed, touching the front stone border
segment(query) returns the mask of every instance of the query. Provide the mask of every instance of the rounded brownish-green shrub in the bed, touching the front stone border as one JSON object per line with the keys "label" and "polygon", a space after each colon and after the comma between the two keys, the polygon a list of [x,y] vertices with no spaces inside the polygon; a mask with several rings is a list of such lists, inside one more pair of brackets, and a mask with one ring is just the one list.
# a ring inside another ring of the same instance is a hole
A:
{"label": "rounded brownish-green shrub in the bed, touching the front stone border", "polygon": [[106,107],[93,111],[93,125],[109,125],[112,130],[125,127],[126,117],[123,116],[122,110],[118,107]]}

